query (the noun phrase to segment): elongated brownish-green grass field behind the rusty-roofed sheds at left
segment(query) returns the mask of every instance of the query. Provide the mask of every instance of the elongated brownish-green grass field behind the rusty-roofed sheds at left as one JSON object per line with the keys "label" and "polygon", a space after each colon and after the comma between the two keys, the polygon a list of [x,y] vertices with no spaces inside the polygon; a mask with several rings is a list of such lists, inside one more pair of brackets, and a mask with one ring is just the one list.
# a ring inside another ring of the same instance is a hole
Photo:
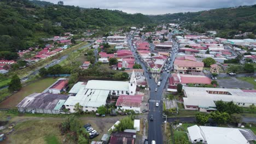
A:
{"label": "elongated brownish-green grass field behind the rusty-roofed sheds at left", "polygon": [[0,103],[0,108],[8,108],[13,109],[15,106],[20,103],[22,99],[27,97],[28,95],[32,93],[40,93],[43,92],[44,89],[48,88],[50,85],[52,85],[57,79],[60,77],[54,78],[54,77],[48,77],[46,79],[38,80],[34,83],[31,83],[28,86],[22,87],[21,90],[9,97],[8,99],[2,101]]}

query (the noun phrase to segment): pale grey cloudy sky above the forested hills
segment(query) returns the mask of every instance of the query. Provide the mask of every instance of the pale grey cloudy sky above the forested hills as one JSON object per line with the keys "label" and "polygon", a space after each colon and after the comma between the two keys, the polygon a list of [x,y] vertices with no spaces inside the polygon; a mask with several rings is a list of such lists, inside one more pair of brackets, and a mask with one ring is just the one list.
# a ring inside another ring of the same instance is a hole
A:
{"label": "pale grey cloudy sky above the forested hills", "polygon": [[166,14],[253,5],[255,0],[44,0],[83,8],[117,9],[126,13]]}

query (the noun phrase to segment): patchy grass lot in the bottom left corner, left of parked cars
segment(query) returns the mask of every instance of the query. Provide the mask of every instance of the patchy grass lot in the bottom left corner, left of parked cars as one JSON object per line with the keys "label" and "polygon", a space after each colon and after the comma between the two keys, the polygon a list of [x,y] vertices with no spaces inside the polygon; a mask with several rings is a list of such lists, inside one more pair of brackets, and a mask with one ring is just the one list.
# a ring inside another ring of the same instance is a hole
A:
{"label": "patchy grass lot in the bottom left corner, left of parked cars", "polygon": [[15,125],[13,134],[8,135],[9,143],[61,143],[59,129],[61,121],[33,120]]}

